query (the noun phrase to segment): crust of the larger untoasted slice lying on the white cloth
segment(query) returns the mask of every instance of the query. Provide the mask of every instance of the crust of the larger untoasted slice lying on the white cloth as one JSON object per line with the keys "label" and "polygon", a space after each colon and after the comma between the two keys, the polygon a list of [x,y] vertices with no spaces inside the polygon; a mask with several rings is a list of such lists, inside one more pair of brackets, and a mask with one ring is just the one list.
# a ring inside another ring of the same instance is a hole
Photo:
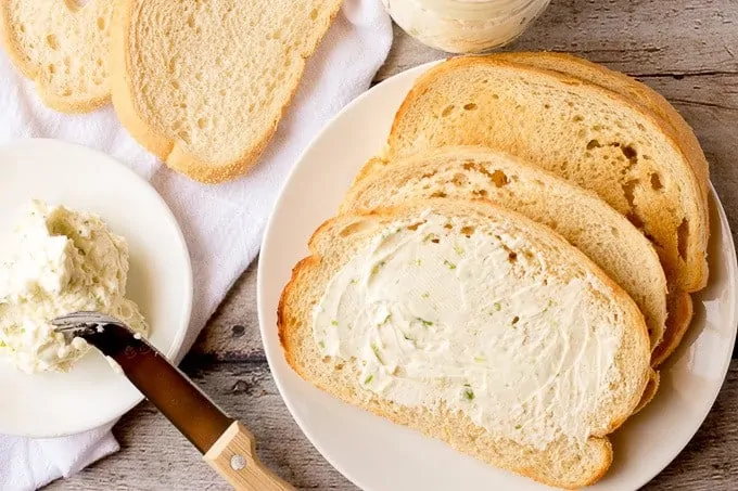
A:
{"label": "crust of the larger untoasted slice lying on the white cloth", "polygon": [[258,157],[277,131],[280,119],[297,92],[300,80],[305,70],[306,60],[318,48],[318,44],[332,24],[333,18],[339,13],[342,3],[341,0],[333,2],[333,9],[322,33],[320,33],[320,36],[316,37],[315,44],[306,50],[306,52],[302,53],[300,59],[300,62],[302,63],[300,66],[300,76],[296,77],[295,85],[291,88],[290,96],[284,101],[279,114],[275,115],[269,128],[267,128],[257,141],[252,142],[252,145],[249,148],[245,148],[236,160],[225,165],[213,165],[200,160],[195,156],[187,153],[187,151],[177,145],[176,141],[158,134],[143,120],[136,109],[136,103],[132,98],[133,87],[130,82],[129,75],[132,70],[132,63],[130,61],[129,46],[126,39],[130,33],[133,0],[115,1],[115,15],[111,26],[113,33],[111,42],[111,88],[115,112],[117,113],[120,122],[123,122],[123,126],[126,127],[130,134],[143,147],[164,160],[171,169],[206,184],[217,184],[233,180],[246,173],[257,164]]}

